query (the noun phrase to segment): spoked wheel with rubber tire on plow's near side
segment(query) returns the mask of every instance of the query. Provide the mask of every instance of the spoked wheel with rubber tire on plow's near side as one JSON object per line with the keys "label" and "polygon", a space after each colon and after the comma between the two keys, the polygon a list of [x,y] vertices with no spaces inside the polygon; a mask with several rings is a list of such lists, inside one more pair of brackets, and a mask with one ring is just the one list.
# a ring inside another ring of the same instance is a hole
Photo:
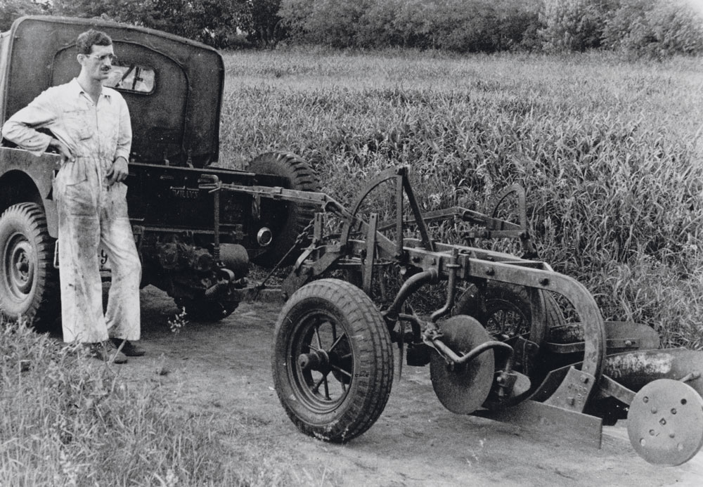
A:
{"label": "spoked wheel with rubber tire on plow's near side", "polygon": [[349,441],[373,425],[388,401],[389,332],[358,287],[316,280],[297,290],[278,316],[272,369],[278,398],[301,431]]}

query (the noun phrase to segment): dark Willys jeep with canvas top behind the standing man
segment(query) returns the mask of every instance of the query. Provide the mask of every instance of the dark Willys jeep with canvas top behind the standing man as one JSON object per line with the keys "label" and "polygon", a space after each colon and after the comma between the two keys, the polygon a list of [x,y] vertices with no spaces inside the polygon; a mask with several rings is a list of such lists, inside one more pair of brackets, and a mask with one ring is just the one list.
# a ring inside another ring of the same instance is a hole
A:
{"label": "dark Willys jeep with canvas top behind the standing man", "polygon": [[[0,41],[0,123],[41,91],[77,76],[76,37],[107,32],[119,60],[106,83],[129,105],[134,140],[128,204],[143,285],[168,292],[189,316],[217,320],[243,299],[250,261],[276,263],[309,223],[304,204],[200,189],[202,181],[316,190],[297,157],[267,153],[248,171],[215,169],[224,66],[197,42],[100,20],[25,17]],[[58,313],[57,214],[60,157],[0,148],[0,309],[49,324]],[[217,221],[215,221],[217,220]],[[103,264],[105,264],[103,260]]]}

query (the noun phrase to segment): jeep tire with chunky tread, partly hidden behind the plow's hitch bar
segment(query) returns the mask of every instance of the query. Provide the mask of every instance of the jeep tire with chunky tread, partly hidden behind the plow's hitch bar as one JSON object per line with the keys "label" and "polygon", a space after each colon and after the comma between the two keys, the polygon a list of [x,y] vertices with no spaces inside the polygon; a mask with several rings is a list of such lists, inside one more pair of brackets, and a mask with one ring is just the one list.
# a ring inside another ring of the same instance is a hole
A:
{"label": "jeep tire with chunky tread, partly hidden behind the plow's hitch bar", "polygon": [[[266,152],[255,157],[247,169],[256,174],[274,174],[288,179],[285,189],[299,191],[319,191],[320,181],[315,171],[307,162],[296,155],[285,152]],[[273,267],[285,256],[290,247],[295,245],[297,236],[304,230],[315,216],[318,207],[314,204],[299,202],[288,202],[286,216],[280,228],[271,228],[273,231],[273,242],[271,247],[263,254],[252,258],[252,262],[263,267]],[[302,242],[301,248],[308,242]],[[298,254],[291,254],[283,261],[283,266],[288,266],[295,262]]]}

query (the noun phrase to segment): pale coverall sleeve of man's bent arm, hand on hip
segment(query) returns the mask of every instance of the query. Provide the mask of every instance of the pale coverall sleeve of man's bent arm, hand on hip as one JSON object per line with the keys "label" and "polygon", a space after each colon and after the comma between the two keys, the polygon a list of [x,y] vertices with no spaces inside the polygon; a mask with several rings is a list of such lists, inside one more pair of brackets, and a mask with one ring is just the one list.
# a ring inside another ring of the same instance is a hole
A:
{"label": "pale coverall sleeve of man's bent arm, hand on hip", "polygon": [[44,91],[5,122],[2,136],[36,156],[42,155],[49,148],[51,136],[37,129],[56,122],[57,117],[51,95]]}

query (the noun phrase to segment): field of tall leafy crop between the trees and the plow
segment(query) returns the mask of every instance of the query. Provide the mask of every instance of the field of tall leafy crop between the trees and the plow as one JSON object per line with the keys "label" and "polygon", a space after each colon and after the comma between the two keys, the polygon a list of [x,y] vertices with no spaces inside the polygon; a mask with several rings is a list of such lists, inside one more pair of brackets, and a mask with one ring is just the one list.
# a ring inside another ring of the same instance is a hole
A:
{"label": "field of tall leafy crop between the trees and the plow", "polygon": [[586,285],[606,320],[703,348],[699,60],[308,48],[225,63],[221,165],[290,150],[349,202],[404,164],[428,211],[486,209],[520,183],[540,259]]}

